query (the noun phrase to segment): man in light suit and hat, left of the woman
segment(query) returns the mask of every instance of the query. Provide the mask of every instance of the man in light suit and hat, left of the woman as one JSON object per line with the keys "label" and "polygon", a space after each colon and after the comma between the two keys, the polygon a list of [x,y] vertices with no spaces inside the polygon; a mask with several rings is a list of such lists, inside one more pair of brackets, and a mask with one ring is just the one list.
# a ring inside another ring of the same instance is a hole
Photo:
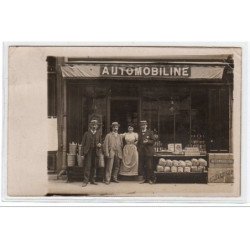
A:
{"label": "man in light suit and hat, left of the woman", "polygon": [[105,169],[105,184],[110,181],[119,183],[117,180],[120,170],[120,162],[122,159],[122,136],[118,134],[119,123],[113,122],[111,125],[112,131],[108,133],[104,140],[104,155],[107,157]]}

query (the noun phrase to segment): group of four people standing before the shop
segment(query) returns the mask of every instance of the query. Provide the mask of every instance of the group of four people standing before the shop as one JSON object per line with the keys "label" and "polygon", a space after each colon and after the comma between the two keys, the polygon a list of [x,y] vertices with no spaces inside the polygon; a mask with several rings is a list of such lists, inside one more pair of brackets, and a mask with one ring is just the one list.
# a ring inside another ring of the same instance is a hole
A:
{"label": "group of four people standing before the shop", "polygon": [[[113,122],[112,131],[102,143],[97,120],[91,120],[89,130],[82,139],[82,149],[85,161],[83,187],[88,183],[97,185],[95,181],[97,159],[100,152],[106,158],[104,183],[119,183],[118,175],[143,175],[141,183],[154,183],[153,155],[155,137],[147,128],[147,121],[140,121],[140,132],[134,132],[134,126],[128,125],[128,131],[119,134],[119,123]],[[125,145],[124,145],[125,144]]]}

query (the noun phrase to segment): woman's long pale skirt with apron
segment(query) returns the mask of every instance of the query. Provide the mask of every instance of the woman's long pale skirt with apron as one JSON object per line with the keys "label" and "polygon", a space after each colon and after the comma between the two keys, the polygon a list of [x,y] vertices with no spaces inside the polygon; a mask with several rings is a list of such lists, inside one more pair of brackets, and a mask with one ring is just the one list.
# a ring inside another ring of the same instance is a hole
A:
{"label": "woman's long pale skirt with apron", "polygon": [[123,148],[120,175],[138,175],[138,151],[134,144],[127,144]]}

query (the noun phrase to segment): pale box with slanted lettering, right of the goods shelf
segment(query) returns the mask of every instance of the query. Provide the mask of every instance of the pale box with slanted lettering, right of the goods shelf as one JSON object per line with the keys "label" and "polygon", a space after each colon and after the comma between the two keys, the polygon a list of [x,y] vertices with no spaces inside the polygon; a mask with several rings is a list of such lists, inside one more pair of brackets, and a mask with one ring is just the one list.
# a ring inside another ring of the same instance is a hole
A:
{"label": "pale box with slanted lettering, right of the goods shelf", "polygon": [[209,183],[233,183],[234,173],[233,167],[209,167],[208,168]]}

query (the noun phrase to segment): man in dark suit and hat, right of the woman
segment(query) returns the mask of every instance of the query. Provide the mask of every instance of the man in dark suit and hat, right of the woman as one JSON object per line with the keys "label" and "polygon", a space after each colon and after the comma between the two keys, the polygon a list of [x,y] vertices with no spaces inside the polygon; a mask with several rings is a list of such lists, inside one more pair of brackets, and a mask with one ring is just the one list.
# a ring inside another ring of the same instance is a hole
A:
{"label": "man in dark suit and hat, right of the woman", "polygon": [[151,130],[147,129],[147,121],[140,121],[140,133],[138,138],[139,172],[143,174],[142,183],[154,183],[153,155],[155,138]]}

